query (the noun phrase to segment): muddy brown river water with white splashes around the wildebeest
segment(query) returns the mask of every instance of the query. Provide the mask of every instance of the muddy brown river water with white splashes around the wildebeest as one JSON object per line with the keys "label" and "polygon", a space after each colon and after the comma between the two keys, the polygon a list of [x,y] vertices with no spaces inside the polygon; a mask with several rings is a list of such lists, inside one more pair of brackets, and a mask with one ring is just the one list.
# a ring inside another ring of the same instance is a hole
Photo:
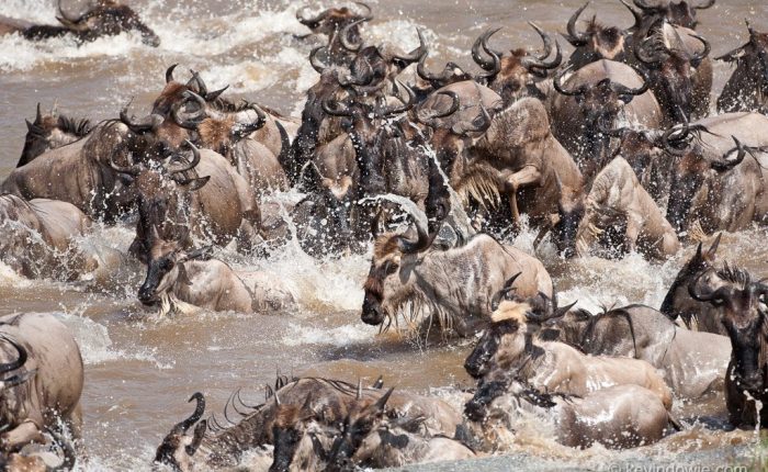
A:
{"label": "muddy brown river water with white splashes around the wildebeest", "polygon": [[[21,154],[24,117],[34,117],[37,102],[48,109],[58,101],[60,111],[98,121],[115,117],[133,98],[133,110],[140,113],[161,89],[165,69],[173,63],[181,64],[179,75],[187,68],[202,71],[210,88],[228,83],[230,95],[300,114],[303,92],[316,78],[306,60],[310,46],[293,37],[306,33],[294,19],[302,2],[129,3],[160,35],[159,48],[145,47],[129,35],[82,47],[68,40],[30,44],[14,36],[0,38],[0,178],[10,172]],[[54,4],[53,0],[2,0],[0,15],[54,23]],[[71,8],[77,4],[72,1]],[[441,68],[444,60],[467,65],[472,41],[488,26],[504,26],[494,40],[499,47],[538,48],[539,40],[527,22],[535,21],[550,32],[564,31],[569,14],[581,2],[382,0],[371,4],[376,19],[368,29],[369,35],[410,49],[417,44],[414,26],[423,25],[434,48],[431,67]],[[584,18],[594,13],[608,24],[629,26],[632,22],[618,1],[594,1]],[[712,42],[713,55],[743,44],[744,18],[758,30],[768,30],[768,3],[719,0],[713,9],[701,12],[699,31]],[[715,93],[727,74],[726,66],[715,65]],[[766,236],[764,228],[725,235],[722,257],[766,276]],[[108,270],[95,281],[27,281],[0,265],[0,314],[55,312],[77,333],[87,369],[82,403],[88,470],[148,469],[162,436],[190,412],[187,398],[191,393],[204,392],[210,412],[221,412],[239,387],[244,400],[255,403],[262,398],[262,385],[273,382],[278,369],[349,381],[358,377],[373,381],[383,374],[389,385],[439,394],[458,407],[456,390],[472,384],[462,368],[470,341],[425,347],[396,333],[379,335],[376,328],[360,322],[368,256],[316,261],[294,245],[267,260],[224,252],[246,277],[260,270],[283,280],[298,307],[289,313],[200,313],[157,319],[135,299],[142,268],[120,256],[131,238],[127,227],[98,228],[81,241],[104,258]],[[516,243],[532,250],[532,239],[526,232]],[[660,265],[639,256],[566,263],[546,245],[539,256],[555,276],[562,300],[579,300],[581,306],[597,311],[601,305],[630,302],[658,306],[691,252],[688,247]],[[689,424],[700,414],[711,417],[709,423],[722,423],[722,396],[677,408]],[[547,464],[600,469],[650,458],[732,464],[757,453],[753,431],[727,432],[704,423],[698,422],[659,445],[625,452],[602,448],[574,451],[554,443],[538,425],[523,425],[510,446],[512,456],[495,459],[500,461],[496,470],[539,470]],[[701,459],[692,456],[694,451],[703,453]],[[451,467],[473,469],[472,464]]]}

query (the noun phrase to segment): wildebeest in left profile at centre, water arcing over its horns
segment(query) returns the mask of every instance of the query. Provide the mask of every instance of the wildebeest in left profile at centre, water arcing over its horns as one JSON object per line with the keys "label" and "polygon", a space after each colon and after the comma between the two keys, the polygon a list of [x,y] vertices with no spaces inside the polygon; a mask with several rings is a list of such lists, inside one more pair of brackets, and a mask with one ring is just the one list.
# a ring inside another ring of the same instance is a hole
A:
{"label": "wildebeest in left profile at centre, water arcing over its horns", "polygon": [[417,238],[397,233],[376,238],[364,285],[364,323],[381,325],[385,318],[396,322],[399,312],[410,304],[411,321],[437,321],[441,329],[467,336],[477,325],[487,323],[493,294],[505,283],[515,283],[521,294],[543,292],[553,296],[552,279],[534,257],[485,234],[461,247],[433,247],[437,234],[429,234],[423,212],[410,200],[383,198],[411,215]]}

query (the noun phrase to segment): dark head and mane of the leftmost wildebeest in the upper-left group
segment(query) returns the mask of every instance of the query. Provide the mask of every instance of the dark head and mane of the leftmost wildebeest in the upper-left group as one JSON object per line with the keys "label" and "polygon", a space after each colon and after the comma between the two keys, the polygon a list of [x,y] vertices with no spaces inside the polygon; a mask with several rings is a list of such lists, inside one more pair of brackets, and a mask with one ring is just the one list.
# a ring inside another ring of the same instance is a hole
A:
{"label": "dark head and mane of the leftmost wildebeest in the upper-left group", "polygon": [[65,115],[59,115],[56,110],[49,114],[43,115],[37,103],[37,113],[35,121],[26,122],[26,136],[24,138],[24,148],[21,151],[21,158],[16,167],[21,167],[30,162],[35,157],[46,150],[64,146],[86,136],[91,131],[91,122],[89,120],[74,120]]}

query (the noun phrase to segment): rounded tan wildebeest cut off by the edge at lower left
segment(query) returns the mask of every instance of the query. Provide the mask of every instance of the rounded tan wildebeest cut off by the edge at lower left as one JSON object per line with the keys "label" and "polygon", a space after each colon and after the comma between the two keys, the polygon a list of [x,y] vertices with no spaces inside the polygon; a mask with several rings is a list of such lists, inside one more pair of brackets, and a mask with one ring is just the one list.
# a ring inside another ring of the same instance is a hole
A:
{"label": "rounded tan wildebeest cut off by the edge at lower left", "polygon": [[80,439],[83,369],[70,329],[50,314],[0,317],[0,422],[3,451],[45,442],[59,420]]}

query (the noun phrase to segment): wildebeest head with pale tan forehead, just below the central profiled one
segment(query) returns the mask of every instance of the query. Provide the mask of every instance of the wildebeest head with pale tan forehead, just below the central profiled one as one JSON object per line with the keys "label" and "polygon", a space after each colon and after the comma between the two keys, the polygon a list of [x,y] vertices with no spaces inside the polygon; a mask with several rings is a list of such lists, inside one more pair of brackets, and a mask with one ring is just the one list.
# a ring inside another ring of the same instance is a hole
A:
{"label": "wildebeest head with pale tan forehead, just below the central profiled one", "polygon": [[464,369],[474,379],[482,379],[492,370],[523,369],[541,355],[541,348],[533,345],[533,335],[541,324],[561,317],[571,308],[556,308],[553,300],[541,292],[524,301],[519,299],[512,286],[519,276],[510,278],[494,295],[492,324],[464,362]]}

